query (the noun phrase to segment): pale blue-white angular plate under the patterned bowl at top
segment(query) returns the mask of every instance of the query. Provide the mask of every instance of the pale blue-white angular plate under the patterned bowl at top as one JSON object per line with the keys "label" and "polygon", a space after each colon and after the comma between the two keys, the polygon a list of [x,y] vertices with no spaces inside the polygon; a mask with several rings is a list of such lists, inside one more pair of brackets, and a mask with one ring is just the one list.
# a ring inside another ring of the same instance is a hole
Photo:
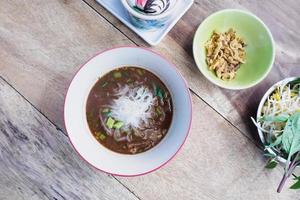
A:
{"label": "pale blue-white angular plate under the patterned bowl at top", "polygon": [[130,22],[128,13],[120,0],[96,1],[152,46],[157,45],[165,37],[165,35],[173,28],[177,21],[185,14],[194,2],[194,0],[179,0],[176,3],[174,13],[166,22],[165,26],[153,30],[143,30],[135,27]]}

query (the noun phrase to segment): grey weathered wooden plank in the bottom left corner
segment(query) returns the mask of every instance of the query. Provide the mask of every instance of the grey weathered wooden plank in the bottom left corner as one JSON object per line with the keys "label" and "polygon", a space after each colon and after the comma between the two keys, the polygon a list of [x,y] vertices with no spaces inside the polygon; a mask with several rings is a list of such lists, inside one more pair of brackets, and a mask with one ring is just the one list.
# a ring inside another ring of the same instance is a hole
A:
{"label": "grey weathered wooden plank in the bottom left corner", "polygon": [[0,78],[0,199],[138,199]]}

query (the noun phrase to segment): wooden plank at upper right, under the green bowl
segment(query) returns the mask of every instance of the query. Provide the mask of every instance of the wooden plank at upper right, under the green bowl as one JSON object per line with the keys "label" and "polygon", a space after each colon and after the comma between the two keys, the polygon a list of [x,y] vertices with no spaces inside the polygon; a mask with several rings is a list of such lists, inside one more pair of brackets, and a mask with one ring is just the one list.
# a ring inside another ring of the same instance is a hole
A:
{"label": "wooden plank at upper right, under the green bowl", "polygon": [[[110,21],[137,45],[148,46],[94,0],[84,0]],[[199,24],[209,14],[225,8],[239,8],[253,12],[270,28],[276,41],[277,56],[273,70],[258,86],[247,90],[230,91],[212,85],[198,71],[192,56],[192,40]],[[154,50],[172,60],[190,88],[205,102],[228,119],[250,138],[257,139],[250,116],[264,92],[275,82],[290,76],[300,76],[300,2],[294,0],[196,0],[192,8]]]}

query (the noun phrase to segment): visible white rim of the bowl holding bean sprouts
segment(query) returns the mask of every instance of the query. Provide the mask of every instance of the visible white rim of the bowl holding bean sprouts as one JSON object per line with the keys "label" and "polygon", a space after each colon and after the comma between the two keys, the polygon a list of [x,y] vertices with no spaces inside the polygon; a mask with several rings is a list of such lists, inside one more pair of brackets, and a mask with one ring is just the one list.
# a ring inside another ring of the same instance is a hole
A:
{"label": "visible white rim of the bowl holding bean sprouts", "polygon": [[[282,85],[285,85],[293,80],[295,80],[296,77],[290,77],[290,78],[286,78],[286,79],[283,79],[277,83],[275,83],[266,93],[265,95],[263,96],[263,98],[261,99],[260,103],[259,103],[259,106],[258,106],[258,109],[257,109],[257,115],[256,115],[256,119],[259,119],[261,117],[261,113],[262,113],[262,108],[266,102],[266,100],[268,99],[268,97],[276,90],[277,87],[279,86],[282,86]],[[261,140],[261,142],[263,144],[265,144],[266,140],[265,140],[265,136],[263,134],[263,132],[260,130],[260,129],[257,129],[258,131],[258,135],[259,135],[259,138]],[[267,151],[270,153],[270,154],[273,154],[273,155],[277,155],[277,153],[273,150],[273,148],[266,148]],[[281,163],[286,163],[286,159],[281,157],[281,156],[277,156],[277,160],[280,161]]]}

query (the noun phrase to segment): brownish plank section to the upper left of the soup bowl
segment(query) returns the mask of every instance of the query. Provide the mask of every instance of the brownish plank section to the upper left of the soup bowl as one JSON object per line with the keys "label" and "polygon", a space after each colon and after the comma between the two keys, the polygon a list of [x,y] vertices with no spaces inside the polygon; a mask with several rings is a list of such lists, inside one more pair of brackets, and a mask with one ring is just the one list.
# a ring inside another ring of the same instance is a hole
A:
{"label": "brownish plank section to the upper left of the soup bowl", "polygon": [[60,128],[64,96],[80,65],[128,44],[82,1],[0,1],[0,75]]}

